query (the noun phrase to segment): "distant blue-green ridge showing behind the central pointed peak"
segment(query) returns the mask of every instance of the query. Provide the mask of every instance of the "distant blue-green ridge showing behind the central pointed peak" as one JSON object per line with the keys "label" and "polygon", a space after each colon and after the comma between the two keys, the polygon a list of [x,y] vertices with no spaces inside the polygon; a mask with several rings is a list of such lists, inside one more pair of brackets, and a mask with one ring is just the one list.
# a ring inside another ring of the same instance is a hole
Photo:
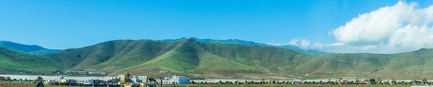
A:
{"label": "distant blue-green ridge showing behind the central pointed peak", "polygon": [[[176,40],[183,40],[186,39],[186,37],[182,37],[179,39],[165,39],[165,40],[158,40],[163,42],[170,42],[170,41],[176,41]],[[228,39],[228,40],[213,40],[213,39],[199,39],[190,37],[190,39],[197,40],[204,43],[216,43],[216,44],[242,44],[246,46],[260,46],[260,47],[277,47],[277,48],[284,48],[289,50],[294,50],[301,53],[311,54],[311,55],[323,55],[323,54],[333,54],[333,53],[327,53],[323,51],[316,51],[316,50],[302,50],[297,46],[294,45],[284,45],[284,46],[274,46],[274,45],[268,45],[268,44],[261,44],[261,43],[255,43],[252,41],[246,41],[246,40],[238,40],[238,39]]]}

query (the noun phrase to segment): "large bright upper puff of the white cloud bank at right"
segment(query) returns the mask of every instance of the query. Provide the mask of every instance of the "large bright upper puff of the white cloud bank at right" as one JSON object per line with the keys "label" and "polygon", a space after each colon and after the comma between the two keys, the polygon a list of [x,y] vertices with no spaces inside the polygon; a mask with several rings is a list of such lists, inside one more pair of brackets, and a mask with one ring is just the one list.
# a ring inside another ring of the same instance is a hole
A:
{"label": "large bright upper puff of the white cloud bank at right", "polygon": [[386,41],[392,36],[392,31],[405,26],[404,23],[420,24],[422,22],[418,22],[419,18],[427,17],[420,17],[424,10],[415,9],[415,6],[417,3],[399,1],[394,6],[382,7],[359,15],[346,25],[336,28],[332,32],[333,36],[343,43],[371,42],[368,44],[376,44]]}

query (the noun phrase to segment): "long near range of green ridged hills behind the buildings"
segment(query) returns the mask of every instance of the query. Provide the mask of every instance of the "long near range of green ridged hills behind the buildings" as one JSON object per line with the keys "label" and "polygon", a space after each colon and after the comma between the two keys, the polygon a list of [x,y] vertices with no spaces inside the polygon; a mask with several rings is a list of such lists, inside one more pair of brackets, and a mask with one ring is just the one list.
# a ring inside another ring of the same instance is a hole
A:
{"label": "long near range of green ridged hills behind the buildings", "polygon": [[308,74],[319,78],[432,79],[433,49],[310,55],[277,47],[204,43],[192,38],[166,42],[111,40],[44,55],[0,47],[0,72],[68,69],[154,77],[165,77],[167,73],[159,71],[170,71],[171,75],[202,77]]}

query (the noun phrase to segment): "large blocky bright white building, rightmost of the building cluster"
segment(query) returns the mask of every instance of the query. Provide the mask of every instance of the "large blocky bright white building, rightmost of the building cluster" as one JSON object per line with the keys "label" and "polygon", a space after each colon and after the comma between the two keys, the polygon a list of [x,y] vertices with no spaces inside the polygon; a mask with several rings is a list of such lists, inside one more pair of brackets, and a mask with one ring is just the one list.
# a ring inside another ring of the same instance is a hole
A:
{"label": "large blocky bright white building, rightmost of the building cluster", "polygon": [[175,82],[176,84],[189,84],[190,80],[183,76],[174,75],[172,77],[163,78],[162,82],[159,79],[157,81],[162,84],[171,84],[171,82]]}

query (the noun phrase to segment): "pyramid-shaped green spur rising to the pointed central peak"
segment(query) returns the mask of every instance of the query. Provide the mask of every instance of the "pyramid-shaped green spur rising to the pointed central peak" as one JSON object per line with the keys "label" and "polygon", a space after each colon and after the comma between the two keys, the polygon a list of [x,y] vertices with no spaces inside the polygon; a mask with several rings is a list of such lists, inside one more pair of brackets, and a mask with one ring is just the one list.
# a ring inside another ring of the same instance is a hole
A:
{"label": "pyramid-shaped green spur rising to the pointed central peak", "polygon": [[[148,62],[140,65],[126,68],[121,71],[143,70],[145,68],[159,67],[162,70],[168,70],[175,73],[191,73],[206,71],[256,71],[241,63],[235,62],[230,59],[224,59],[219,56],[213,55],[205,50],[204,43],[194,40],[175,41],[181,42],[180,45],[174,49],[156,57]],[[142,72],[142,71],[138,71]]]}

